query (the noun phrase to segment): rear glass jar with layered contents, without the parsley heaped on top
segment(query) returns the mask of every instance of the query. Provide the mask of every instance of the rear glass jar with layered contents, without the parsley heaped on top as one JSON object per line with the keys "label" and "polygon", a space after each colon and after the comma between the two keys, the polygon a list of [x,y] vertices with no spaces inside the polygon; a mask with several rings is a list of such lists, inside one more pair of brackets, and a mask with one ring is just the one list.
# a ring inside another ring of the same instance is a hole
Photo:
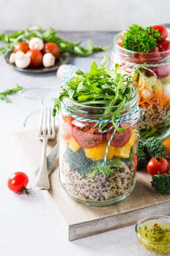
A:
{"label": "rear glass jar with layered contents, without the parsley heaped on top", "polygon": [[[139,89],[139,108],[145,110],[140,119],[139,129],[142,138],[170,135],[170,50],[138,53],[122,48],[121,33],[114,39],[110,57],[111,65],[120,64],[123,71],[133,74],[134,83]],[[169,38],[170,40],[170,35]],[[134,69],[139,68],[139,73]]]}

